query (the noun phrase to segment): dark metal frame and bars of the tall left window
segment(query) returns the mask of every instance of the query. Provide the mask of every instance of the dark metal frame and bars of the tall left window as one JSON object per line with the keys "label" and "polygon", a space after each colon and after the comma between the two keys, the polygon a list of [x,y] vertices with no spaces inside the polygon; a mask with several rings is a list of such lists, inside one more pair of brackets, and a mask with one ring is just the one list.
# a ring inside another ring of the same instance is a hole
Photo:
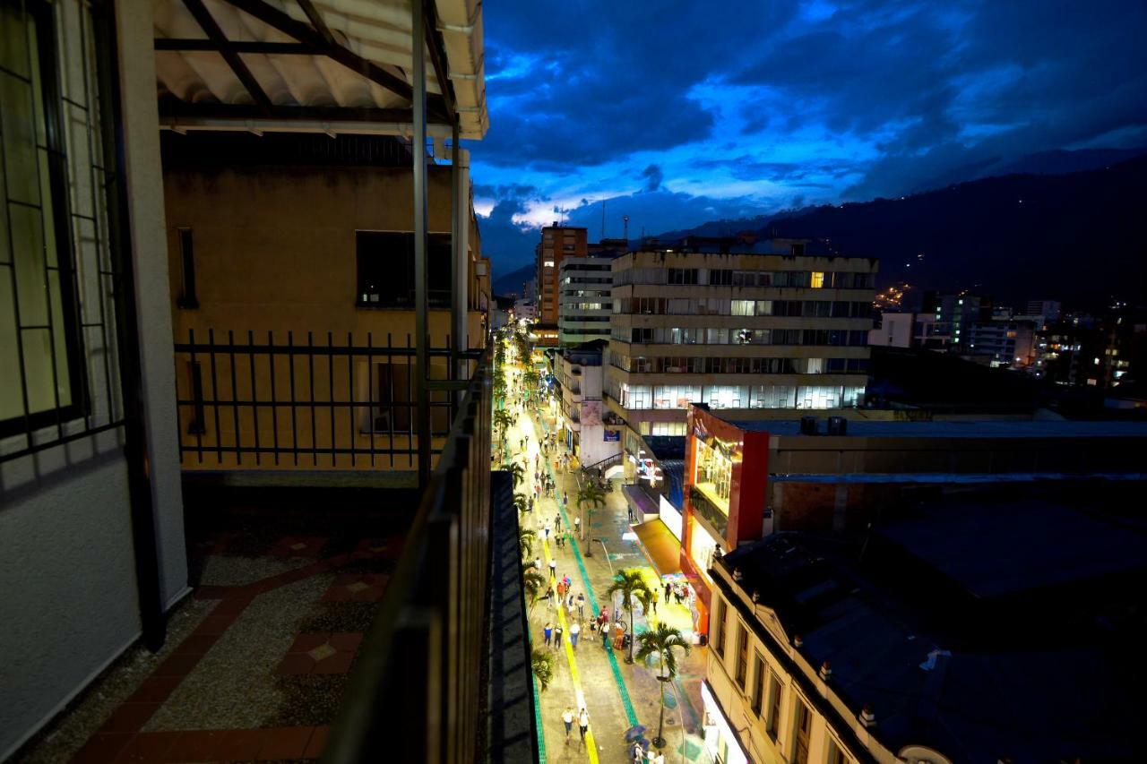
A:
{"label": "dark metal frame and bars of the tall left window", "polygon": [[[63,93],[60,87],[60,59],[55,36],[56,11],[54,3],[47,2],[46,0],[24,0],[24,2],[18,2],[16,0],[0,0],[0,2],[15,7],[17,10],[22,10],[23,14],[31,17],[32,22],[36,24],[34,41],[37,65],[39,67],[40,72],[40,88],[38,93],[33,92],[32,95],[38,99],[39,107],[42,110],[45,146],[40,147],[39,143],[36,143],[34,148],[37,162],[39,162],[40,150],[44,150],[46,154],[47,186],[49,195],[48,203],[50,204],[53,224],[52,229],[53,236],[55,237],[55,270],[58,274],[60,311],[63,322],[62,327],[54,326],[50,302],[52,294],[49,287],[48,303],[46,307],[48,311],[48,322],[46,326],[50,327],[48,329],[49,337],[52,338],[49,352],[52,353],[50,365],[55,405],[49,406],[44,411],[34,413],[30,412],[28,411],[28,395],[26,392],[22,392],[22,405],[24,407],[23,414],[0,420],[0,438],[7,438],[13,436],[31,437],[32,432],[52,426],[55,426],[62,431],[65,422],[83,419],[91,411],[91,402],[87,395],[87,375],[84,365],[84,345],[81,341],[81,329],[79,326],[79,305],[77,302],[78,293],[76,290],[76,252],[73,250],[73,237],[71,232],[72,213],[68,190],[67,142],[63,134]],[[21,31],[28,36],[26,22]],[[5,76],[14,75],[6,73]],[[29,86],[32,87],[33,83],[29,83]],[[33,133],[37,127],[37,125],[33,125]],[[2,150],[2,148],[0,148],[0,150]],[[7,188],[7,180],[5,184]],[[5,198],[5,203],[6,205],[8,204],[7,198]],[[40,200],[40,206],[44,206],[42,197]],[[7,211],[5,211],[5,216],[8,217]],[[9,219],[9,242],[11,242],[10,225],[11,223]],[[47,231],[42,209],[40,210],[40,227],[42,231]],[[19,291],[15,274],[15,248],[13,248],[9,255],[11,257],[11,263],[7,266],[9,268],[7,278],[11,280],[13,288],[13,320],[15,322],[14,327],[16,329],[17,337],[16,352],[19,362],[21,385],[22,388],[26,388],[26,362],[23,342],[24,328],[21,325],[19,318]],[[45,262],[45,271],[47,271],[47,262]],[[5,276],[0,275],[0,278]],[[68,374],[68,388],[70,393],[70,402],[63,405],[60,404],[57,392],[60,387],[60,375],[55,358],[57,334],[62,335],[62,341],[64,343],[64,361],[67,364],[65,371]]]}

